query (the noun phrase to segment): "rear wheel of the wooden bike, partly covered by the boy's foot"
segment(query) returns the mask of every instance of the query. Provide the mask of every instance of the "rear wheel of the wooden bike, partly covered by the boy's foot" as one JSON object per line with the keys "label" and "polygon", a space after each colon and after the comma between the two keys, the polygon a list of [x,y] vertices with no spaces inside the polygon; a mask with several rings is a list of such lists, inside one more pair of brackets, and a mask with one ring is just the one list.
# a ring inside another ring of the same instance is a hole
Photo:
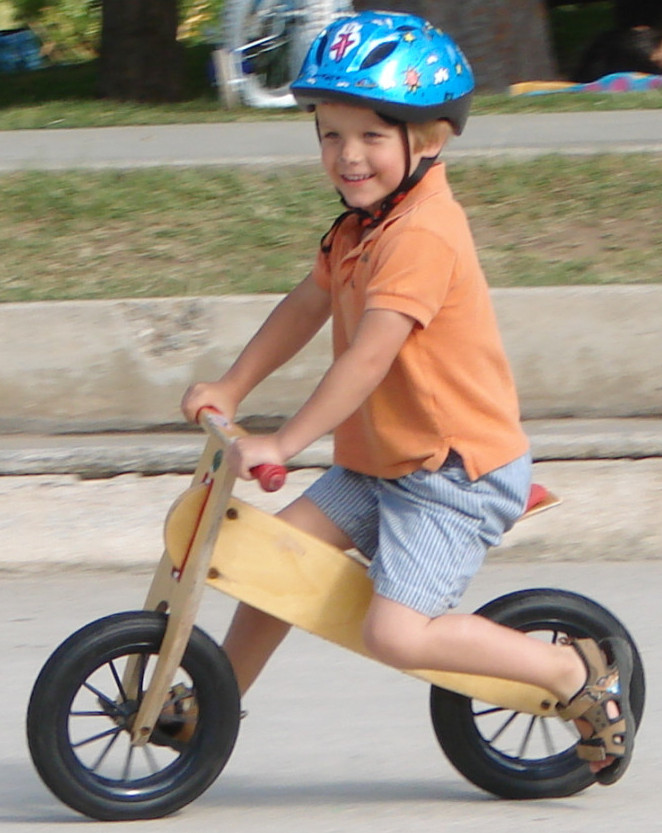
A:
{"label": "rear wheel of the wooden bike, partly covered by the boy's foot", "polygon": [[[634,656],[630,687],[637,727],[645,700],[641,657],[625,627],[585,596],[563,590],[523,590],[501,596],[476,611],[502,625],[556,641],[562,636],[622,636]],[[502,798],[557,798],[595,781],[574,751],[572,723],[495,708],[432,687],[432,725],[453,766],[476,786]]]}

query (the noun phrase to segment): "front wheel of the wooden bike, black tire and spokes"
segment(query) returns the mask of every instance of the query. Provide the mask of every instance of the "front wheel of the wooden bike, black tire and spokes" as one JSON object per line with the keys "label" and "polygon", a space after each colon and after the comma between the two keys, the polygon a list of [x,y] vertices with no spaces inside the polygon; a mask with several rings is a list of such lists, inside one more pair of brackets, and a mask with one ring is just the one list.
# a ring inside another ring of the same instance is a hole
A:
{"label": "front wheel of the wooden bike, black tire and spokes", "polygon": [[128,821],[172,813],[206,790],[232,753],[237,684],[225,654],[199,628],[149,742],[131,746],[128,727],[141,693],[127,698],[124,661],[140,657],[144,690],[165,626],[166,616],[151,611],[92,622],[57,648],[34,685],[27,715],[32,760],[46,786],[86,816]]}

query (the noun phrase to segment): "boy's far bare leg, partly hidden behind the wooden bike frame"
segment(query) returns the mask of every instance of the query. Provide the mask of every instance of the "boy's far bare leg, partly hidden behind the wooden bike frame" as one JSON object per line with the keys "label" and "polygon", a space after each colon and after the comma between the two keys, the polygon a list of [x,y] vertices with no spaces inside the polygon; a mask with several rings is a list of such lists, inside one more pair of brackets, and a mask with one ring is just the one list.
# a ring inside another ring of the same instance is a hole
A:
{"label": "boy's far bare leg, partly hidden behind the wooden bike frame", "polygon": [[[349,538],[306,497],[300,497],[285,507],[279,517],[340,549],[352,547]],[[238,605],[223,648],[232,663],[242,695],[248,691],[289,630],[290,626],[280,619],[249,605]]]}

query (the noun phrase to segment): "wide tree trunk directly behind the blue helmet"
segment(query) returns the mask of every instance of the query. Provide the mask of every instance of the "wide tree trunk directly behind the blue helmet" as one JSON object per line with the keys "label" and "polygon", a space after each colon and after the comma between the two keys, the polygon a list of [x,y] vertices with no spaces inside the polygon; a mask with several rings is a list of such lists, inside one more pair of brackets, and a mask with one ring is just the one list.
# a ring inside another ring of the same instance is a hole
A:
{"label": "wide tree trunk directly behind the blue helmet", "polygon": [[354,0],[354,8],[411,12],[446,30],[483,90],[503,92],[518,81],[556,77],[542,0]]}

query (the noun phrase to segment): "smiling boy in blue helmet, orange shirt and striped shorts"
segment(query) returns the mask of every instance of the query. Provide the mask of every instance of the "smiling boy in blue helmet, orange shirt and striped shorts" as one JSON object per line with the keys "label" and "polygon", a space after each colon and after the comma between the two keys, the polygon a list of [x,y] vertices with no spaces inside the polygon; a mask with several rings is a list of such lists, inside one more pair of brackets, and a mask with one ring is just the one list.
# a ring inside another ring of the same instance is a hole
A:
{"label": "smiling boy in blue helmet, orange shirt and striped shorts", "polygon": [[[334,361],[316,390],[275,434],[238,440],[231,464],[250,478],[251,467],[284,463],[334,431],[335,465],[282,517],[371,559],[367,648],[398,668],[551,690],[569,704],[562,717],[582,718],[578,753],[611,783],[634,735],[627,645],[611,640],[610,665],[592,640],[549,645],[478,616],[447,615],[522,513],[530,482],[488,288],[436,163],[451,131],[464,127],[471,70],[425,21],[364,12],[320,34],[292,89],[315,112],[323,167],[348,210],[311,274],[222,379],[188,389],[183,411],[194,420],[211,405],[232,419],[333,315]],[[287,630],[238,607],[224,647],[242,693]]]}

